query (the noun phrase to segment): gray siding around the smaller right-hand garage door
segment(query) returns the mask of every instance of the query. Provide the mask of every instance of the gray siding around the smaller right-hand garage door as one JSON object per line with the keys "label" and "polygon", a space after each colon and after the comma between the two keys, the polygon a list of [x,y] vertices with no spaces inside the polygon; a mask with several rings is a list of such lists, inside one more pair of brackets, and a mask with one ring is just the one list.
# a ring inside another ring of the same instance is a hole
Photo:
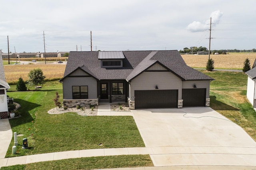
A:
{"label": "gray siding around the smaller right-hand garage door", "polygon": [[210,98],[210,80],[188,80],[182,82],[182,88],[194,88],[194,84],[196,84],[196,88],[206,88],[206,98]]}

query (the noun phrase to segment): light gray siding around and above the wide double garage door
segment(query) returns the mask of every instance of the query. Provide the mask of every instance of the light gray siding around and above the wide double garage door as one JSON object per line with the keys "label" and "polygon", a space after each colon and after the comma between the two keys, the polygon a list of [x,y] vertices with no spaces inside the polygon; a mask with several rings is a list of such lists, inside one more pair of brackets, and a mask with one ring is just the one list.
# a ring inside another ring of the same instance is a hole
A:
{"label": "light gray siding around and above the wide double garage door", "polygon": [[181,99],[182,81],[176,75],[168,71],[143,72],[142,74],[134,78],[130,84],[131,84],[130,85],[131,100],[134,100],[135,90],[157,90],[155,88],[156,85],[158,86],[159,90],[177,90],[178,89],[178,99]]}

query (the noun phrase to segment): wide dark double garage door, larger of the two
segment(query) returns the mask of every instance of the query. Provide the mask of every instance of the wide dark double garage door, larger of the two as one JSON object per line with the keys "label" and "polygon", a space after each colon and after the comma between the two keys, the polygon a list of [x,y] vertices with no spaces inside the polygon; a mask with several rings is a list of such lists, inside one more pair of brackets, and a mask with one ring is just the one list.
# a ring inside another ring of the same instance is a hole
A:
{"label": "wide dark double garage door, larger of the two", "polygon": [[178,90],[135,90],[135,109],[178,106]]}

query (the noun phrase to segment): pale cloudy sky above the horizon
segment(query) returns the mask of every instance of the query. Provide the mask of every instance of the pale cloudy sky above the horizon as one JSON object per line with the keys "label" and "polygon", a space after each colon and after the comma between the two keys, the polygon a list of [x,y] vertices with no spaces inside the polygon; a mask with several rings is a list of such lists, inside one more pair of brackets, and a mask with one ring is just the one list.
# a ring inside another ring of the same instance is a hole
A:
{"label": "pale cloudy sky above the horizon", "polygon": [[11,52],[256,49],[256,0],[1,0]]}

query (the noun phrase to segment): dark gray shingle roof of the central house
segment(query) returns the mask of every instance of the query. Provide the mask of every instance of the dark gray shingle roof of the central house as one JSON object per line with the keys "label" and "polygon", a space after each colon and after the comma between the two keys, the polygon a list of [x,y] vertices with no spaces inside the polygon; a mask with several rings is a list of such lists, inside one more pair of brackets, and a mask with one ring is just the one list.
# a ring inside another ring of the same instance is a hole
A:
{"label": "dark gray shingle roof of the central house", "polygon": [[158,62],[182,80],[214,80],[187,66],[177,50],[123,51],[125,58],[123,59],[122,68],[101,68],[98,53],[98,51],[71,51],[64,72],[64,78],[80,67],[98,80],[126,79],[129,81],[152,64]]}

